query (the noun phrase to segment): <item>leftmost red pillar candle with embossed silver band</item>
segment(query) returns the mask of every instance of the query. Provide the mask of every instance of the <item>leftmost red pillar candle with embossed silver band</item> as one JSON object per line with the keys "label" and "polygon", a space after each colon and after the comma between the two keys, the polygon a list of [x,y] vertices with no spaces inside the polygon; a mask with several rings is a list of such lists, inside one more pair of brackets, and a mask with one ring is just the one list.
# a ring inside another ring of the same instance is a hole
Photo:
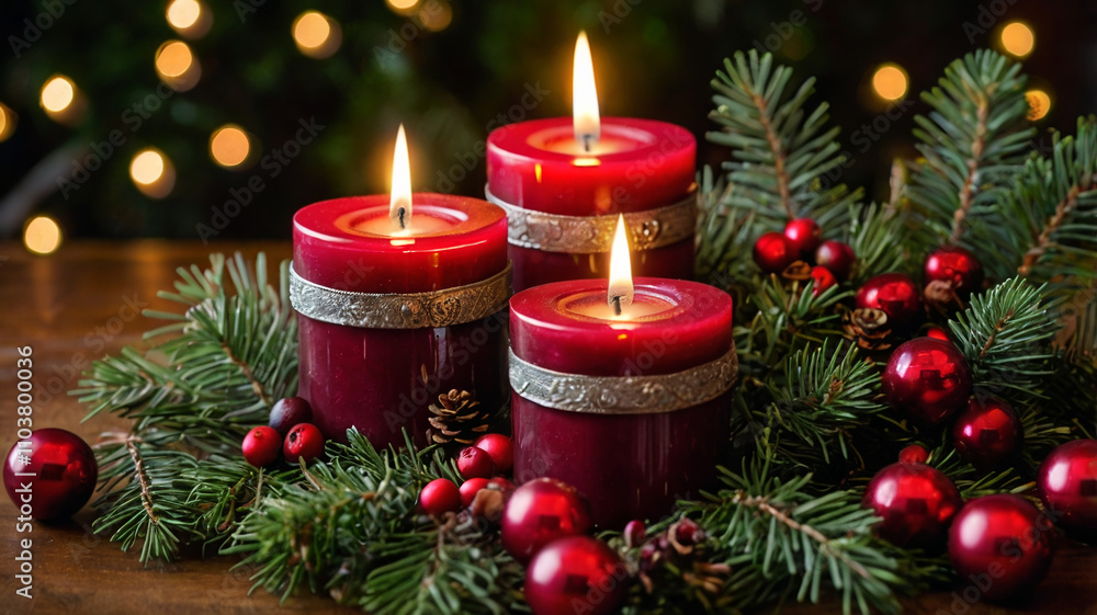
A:
{"label": "leftmost red pillar candle with embossed silver band", "polygon": [[407,429],[422,444],[439,395],[468,390],[487,408],[505,399],[506,216],[475,198],[408,196],[403,230],[387,195],[293,218],[298,390],[327,437],[355,426],[399,446]]}

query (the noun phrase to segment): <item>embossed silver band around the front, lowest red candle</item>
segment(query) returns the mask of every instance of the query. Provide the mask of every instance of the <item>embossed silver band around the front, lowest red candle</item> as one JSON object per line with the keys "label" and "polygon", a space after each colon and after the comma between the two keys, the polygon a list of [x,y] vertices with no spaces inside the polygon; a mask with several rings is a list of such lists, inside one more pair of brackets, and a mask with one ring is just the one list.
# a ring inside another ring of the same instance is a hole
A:
{"label": "embossed silver band around the front, lowest red candle", "polygon": [[671,412],[711,401],[735,385],[735,346],[724,356],[677,374],[581,376],[538,367],[510,351],[510,386],[547,408],[593,414]]}

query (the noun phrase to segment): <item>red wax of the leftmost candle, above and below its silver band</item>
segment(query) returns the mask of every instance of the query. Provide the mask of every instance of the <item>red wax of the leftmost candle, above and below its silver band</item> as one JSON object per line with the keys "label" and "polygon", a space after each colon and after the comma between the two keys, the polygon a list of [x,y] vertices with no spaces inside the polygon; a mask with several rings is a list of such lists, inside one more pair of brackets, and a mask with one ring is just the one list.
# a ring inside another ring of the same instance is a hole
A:
{"label": "red wax of the leftmost candle, above and below its silver band", "polygon": [[[427,235],[365,231],[388,217],[388,196],[315,203],[293,219],[293,266],[309,282],[360,293],[421,293],[478,282],[507,266],[507,221],[487,202],[412,195],[411,227]],[[441,220],[441,221],[439,221]],[[404,443],[402,429],[425,442],[428,406],[452,388],[496,408],[505,399],[506,314],[428,329],[367,329],[298,315],[298,395],[325,436],[346,441],[357,426],[376,446]],[[426,380],[423,375],[426,374]]]}

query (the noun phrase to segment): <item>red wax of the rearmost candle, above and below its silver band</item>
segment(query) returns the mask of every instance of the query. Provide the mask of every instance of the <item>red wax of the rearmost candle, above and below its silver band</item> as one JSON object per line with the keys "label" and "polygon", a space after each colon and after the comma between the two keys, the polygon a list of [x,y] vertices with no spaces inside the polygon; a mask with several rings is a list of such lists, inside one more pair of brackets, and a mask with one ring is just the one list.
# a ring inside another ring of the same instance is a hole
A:
{"label": "red wax of the rearmost candle, above and below its silver band", "polygon": [[[567,216],[644,212],[685,198],[697,172],[697,143],[681,126],[603,117],[590,153],[575,144],[570,117],[509,124],[487,140],[491,194],[511,205]],[[547,282],[606,278],[609,252],[570,254],[510,247],[514,291]],[[693,238],[633,254],[633,273],[693,277]]]}

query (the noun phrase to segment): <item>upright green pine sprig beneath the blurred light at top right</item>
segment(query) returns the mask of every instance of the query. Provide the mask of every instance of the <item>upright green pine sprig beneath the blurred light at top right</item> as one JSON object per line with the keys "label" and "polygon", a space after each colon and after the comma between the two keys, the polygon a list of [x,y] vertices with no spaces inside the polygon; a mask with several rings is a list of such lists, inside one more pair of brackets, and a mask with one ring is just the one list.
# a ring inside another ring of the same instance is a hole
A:
{"label": "upright green pine sprig beneath the blurred light at top right", "polygon": [[993,216],[1021,170],[1033,134],[1024,123],[1025,82],[1019,65],[981,49],[949,65],[939,87],[923,93],[932,112],[915,117],[925,161],[912,167],[907,194],[916,226],[937,242],[972,247],[969,228]]}

